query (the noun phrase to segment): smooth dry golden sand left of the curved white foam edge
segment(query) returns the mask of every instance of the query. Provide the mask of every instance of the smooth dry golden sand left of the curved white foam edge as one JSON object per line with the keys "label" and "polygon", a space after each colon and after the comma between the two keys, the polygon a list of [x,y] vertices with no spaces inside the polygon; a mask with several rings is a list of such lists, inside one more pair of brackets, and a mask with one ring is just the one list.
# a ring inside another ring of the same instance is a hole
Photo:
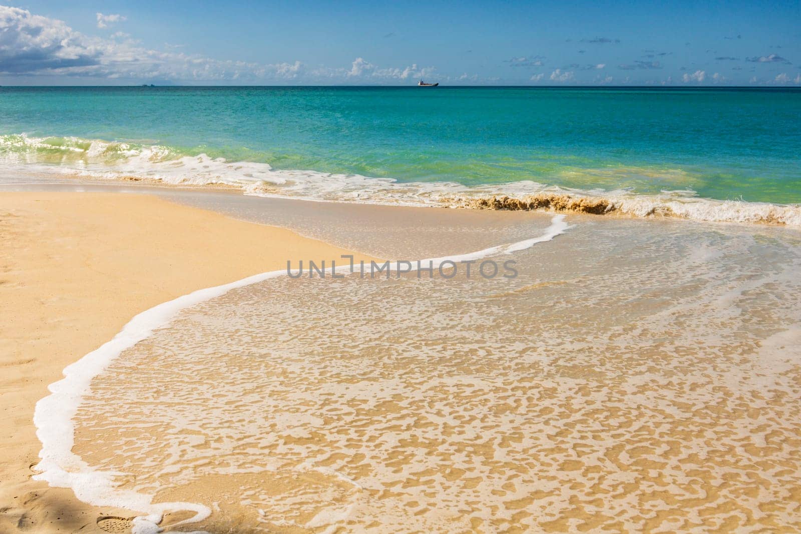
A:
{"label": "smooth dry golden sand left of the curved white foam edge", "polygon": [[151,196],[0,194],[0,532],[102,532],[100,516],[132,515],[30,479],[34,405],[64,367],[159,303],[345,253]]}

